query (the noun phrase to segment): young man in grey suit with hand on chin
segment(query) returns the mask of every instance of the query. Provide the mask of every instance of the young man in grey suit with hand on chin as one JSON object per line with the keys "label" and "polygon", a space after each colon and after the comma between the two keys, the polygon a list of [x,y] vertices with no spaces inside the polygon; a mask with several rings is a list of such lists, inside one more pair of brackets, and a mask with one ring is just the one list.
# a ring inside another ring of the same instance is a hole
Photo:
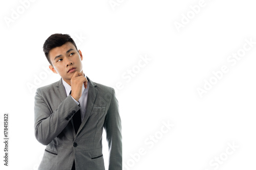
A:
{"label": "young man in grey suit with hand on chin", "polygon": [[39,170],[103,170],[102,132],[109,145],[109,170],[122,169],[121,120],[115,91],[82,70],[82,53],[67,34],[44,43],[49,68],[61,79],[35,94],[35,137],[47,145]]}

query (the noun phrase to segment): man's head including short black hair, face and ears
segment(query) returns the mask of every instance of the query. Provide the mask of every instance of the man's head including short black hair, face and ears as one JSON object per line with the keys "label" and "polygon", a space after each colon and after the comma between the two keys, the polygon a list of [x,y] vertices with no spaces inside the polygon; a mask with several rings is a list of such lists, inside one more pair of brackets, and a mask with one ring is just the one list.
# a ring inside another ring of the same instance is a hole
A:
{"label": "man's head including short black hair, face and ears", "polygon": [[82,72],[82,53],[68,34],[51,35],[45,41],[43,50],[51,64],[49,68],[67,83],[70,84],[75,71]]}

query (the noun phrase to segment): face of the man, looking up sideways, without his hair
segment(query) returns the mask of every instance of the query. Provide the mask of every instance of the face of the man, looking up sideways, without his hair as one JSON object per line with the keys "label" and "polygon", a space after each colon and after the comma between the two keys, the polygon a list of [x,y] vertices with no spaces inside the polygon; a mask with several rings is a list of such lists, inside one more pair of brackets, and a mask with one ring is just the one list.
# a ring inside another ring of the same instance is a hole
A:
{"label": "face of the man, looking up sideways, without his hair", "polygon": [[59,74],[68,84],[75,71],[82,72],[82,53],[80,50],[77,52],[71,42],[50,50],[49,58],[52,62],[49,68],[55,74]]}

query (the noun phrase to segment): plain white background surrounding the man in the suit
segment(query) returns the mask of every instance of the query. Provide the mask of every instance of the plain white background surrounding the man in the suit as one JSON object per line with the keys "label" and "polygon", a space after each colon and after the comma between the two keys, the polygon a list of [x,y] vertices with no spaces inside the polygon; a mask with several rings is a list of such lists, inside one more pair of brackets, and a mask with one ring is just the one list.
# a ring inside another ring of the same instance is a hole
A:
{"label": "plain white background surrounding the man in the suit", "polygon": [[[54,33],[75,39],[92,81],[122,83],[116,93],[123,169],[255,169],[256,44],[247,44],[250,50],[236,64],[227,60],[243,52],[246,39],[256,42],[253,1],[205,0],[196,13],[189,6],[199,0],[114,0],[114,7],[109,0],[21,2],[0,3],[0,136],[9,113],[10,137],[8,167],[0,145],[1,169],[37,169],[44,154],[34,137],[34,95],[60,79],[44,69],[49,63],[42,45]],[[177,29],[177,22],[183,27]],[[149,59],[138,67],[143,56]],[[223,65],[228,71],[212,78]],[[122,77],[128,70],[136,72],[129,80]],[[210,80],[215,84],[201,98],[197,88]],[[163,122],[174,126],[167,129]],[[214,161],[219,157],[221,163]]]}

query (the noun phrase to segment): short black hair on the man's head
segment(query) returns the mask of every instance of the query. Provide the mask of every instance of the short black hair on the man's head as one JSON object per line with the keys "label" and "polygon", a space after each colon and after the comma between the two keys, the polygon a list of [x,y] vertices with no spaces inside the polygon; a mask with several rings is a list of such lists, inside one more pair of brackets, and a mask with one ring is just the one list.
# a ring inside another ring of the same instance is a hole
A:
{"label": "short black hair on the man's head", "polygon": [[[42,48],[46,55],[47,60],[51,65],[52,65],[52,62],[49,57],[49,52],[53,48],[59,47],[67,42],[71,42],[76,47],[75,41],[68,34],[52,34],[50,37],[47,38]],[[76,47],[76,50],[77,50],[77,47]]]}

